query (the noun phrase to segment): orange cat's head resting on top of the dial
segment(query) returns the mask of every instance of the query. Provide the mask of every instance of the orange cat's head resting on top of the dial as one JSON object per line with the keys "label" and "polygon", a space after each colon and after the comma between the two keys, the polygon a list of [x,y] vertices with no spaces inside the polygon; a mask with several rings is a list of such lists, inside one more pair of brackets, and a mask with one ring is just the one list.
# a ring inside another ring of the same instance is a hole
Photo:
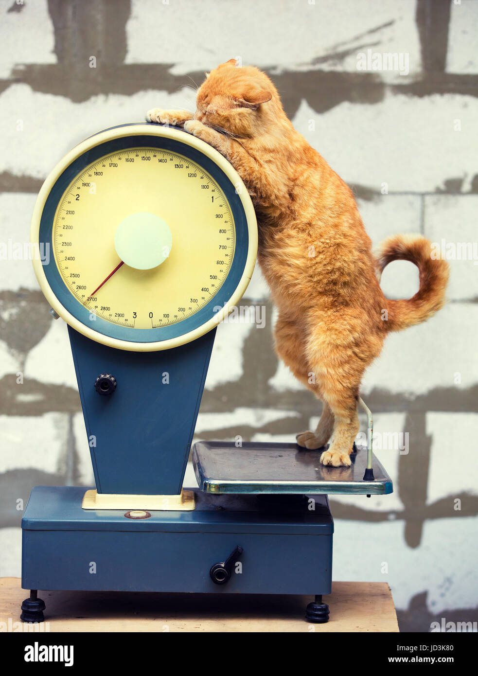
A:
{"label": "orange cat's head resting on top of the dial", "polygon": [[281,109],[274,85],[254,66],[237,67],[235,59],[206,75],[197,92],[195,119],[241,137],[267,128]]}

